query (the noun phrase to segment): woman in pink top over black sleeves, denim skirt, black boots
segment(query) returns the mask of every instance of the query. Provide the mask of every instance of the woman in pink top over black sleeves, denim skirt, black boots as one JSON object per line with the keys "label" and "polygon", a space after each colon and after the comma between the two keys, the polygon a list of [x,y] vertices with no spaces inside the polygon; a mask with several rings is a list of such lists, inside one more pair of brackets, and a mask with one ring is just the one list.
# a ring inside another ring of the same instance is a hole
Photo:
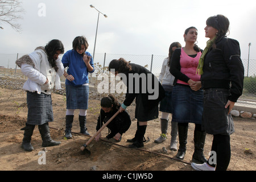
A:
{"label": "woman in pink top over black sleeves, denim skirt, black boots", "polygon": [[172,122],[178,123],[179,150],[176,158],[184,159],[188,123],[195,123],[194,143],[195,151],[192,161],[204,163],[205,131],[201,130],[203,115],[203,90],[201,89],[200,75],[196,74],[201,50],[196,45],[197,29],[189,27],[184,34],[185,47],[175,49],[170,72],[175,76],[172,90]]}

